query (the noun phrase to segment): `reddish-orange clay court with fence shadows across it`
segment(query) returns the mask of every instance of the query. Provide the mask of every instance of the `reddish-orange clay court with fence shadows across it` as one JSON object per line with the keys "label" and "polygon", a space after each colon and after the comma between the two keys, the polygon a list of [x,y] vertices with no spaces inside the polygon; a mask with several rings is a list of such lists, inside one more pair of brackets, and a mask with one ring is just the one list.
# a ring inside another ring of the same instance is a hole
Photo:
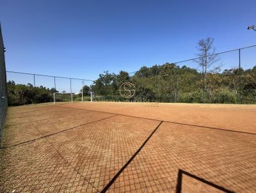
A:
{"label": "reddish-orange clay court with fence shadows across it", "polygon": [[256,106],[9,107],[0,192],[256,192]]}

